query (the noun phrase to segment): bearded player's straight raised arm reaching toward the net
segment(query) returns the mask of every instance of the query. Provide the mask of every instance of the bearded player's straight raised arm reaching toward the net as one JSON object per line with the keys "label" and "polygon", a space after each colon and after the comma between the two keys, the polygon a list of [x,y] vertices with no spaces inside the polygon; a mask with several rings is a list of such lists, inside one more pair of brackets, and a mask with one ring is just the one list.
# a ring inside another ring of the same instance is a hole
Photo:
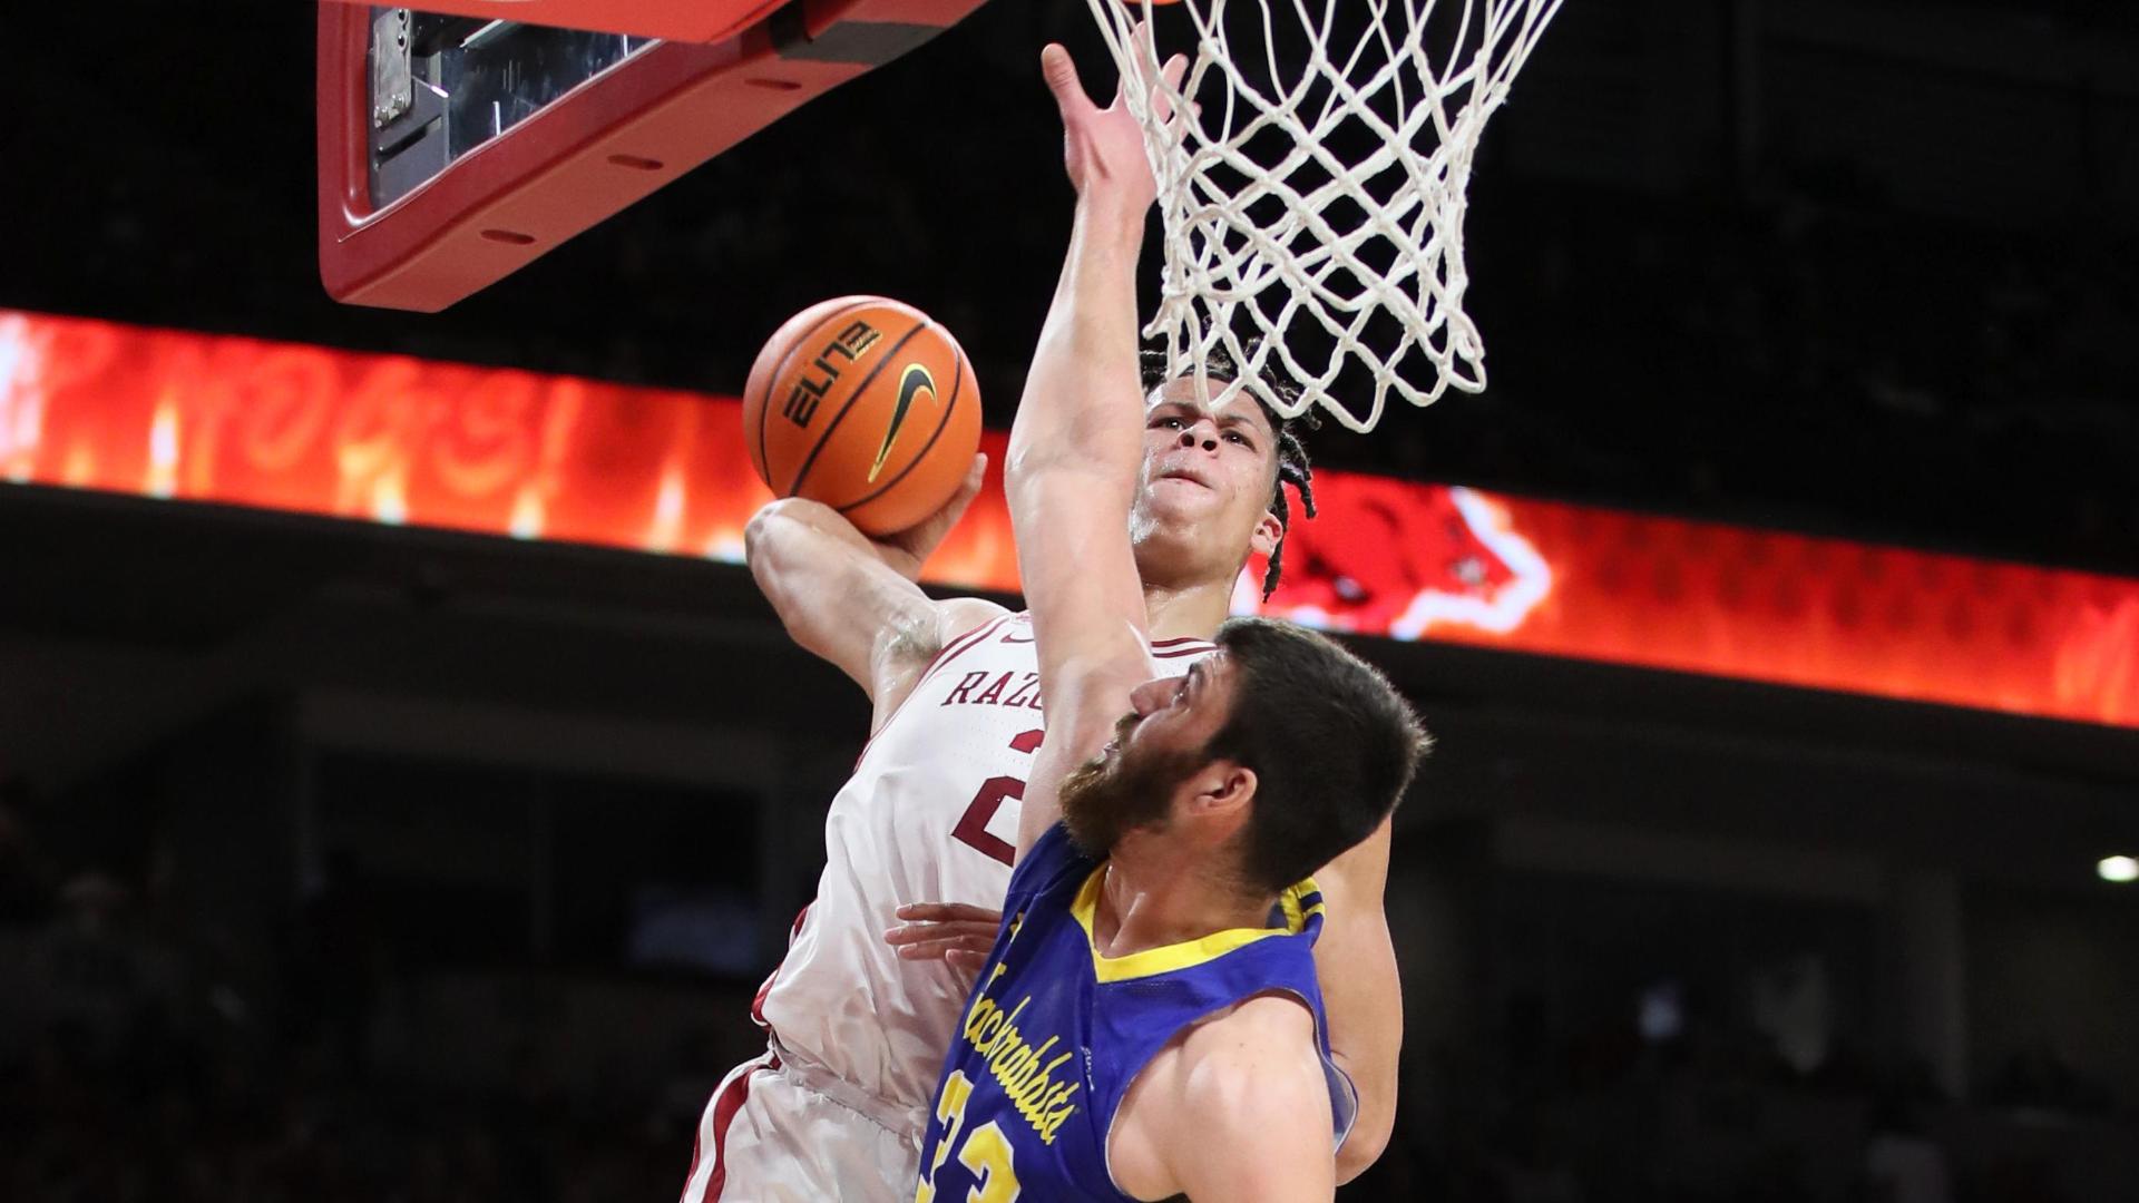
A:
{"label": "bearded player's straight raised arm reaching toward the net", "polygon": [[[1168,64],[1179,71],[1179,64]],[[1142,462],[1136,259],[1153,182],[1121,96],[1091,103],[1070,54],[1042,54],[1063,118],[1076,220],[1055,304],[1010,428],[1010,524],[1033,612],[1048,738],[1033,764],[1018,850],[1057,822],[1061,779],[1106,745],[1129,691],[1153,676],[1144,591],[1129,552]]]}

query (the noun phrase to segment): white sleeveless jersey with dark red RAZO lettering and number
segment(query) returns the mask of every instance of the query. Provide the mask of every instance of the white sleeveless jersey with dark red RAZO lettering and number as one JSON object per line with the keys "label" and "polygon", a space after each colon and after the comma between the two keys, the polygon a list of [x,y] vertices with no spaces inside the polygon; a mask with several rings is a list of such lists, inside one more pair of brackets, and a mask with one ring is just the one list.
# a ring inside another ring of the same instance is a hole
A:
{"label": "white sleeveless jersey with dark red RAZO lettering and number", "polygon": [[[1176,676],[1211,651],[1164,640],[1151,655]],[[757,1000],[783,1060],[826,1070],[849,1105],[915,1141],[967,983],[939,961],[898,959],[883,931],[905,903],[1003,905],[1042,730],[1031,619],[952,640],[832,798],[817,901]]]}

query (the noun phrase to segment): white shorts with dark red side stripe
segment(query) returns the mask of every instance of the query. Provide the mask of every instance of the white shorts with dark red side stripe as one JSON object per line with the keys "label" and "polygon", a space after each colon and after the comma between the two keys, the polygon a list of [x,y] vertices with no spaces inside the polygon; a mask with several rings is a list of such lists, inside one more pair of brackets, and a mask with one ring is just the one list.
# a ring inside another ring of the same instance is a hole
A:
{"label": "white shorts with dark red side stripe", "polygon": [[913,1203],[920,1132],[832,1098],[776,1051],[736,1066],[697,1122],[682,1203]]}

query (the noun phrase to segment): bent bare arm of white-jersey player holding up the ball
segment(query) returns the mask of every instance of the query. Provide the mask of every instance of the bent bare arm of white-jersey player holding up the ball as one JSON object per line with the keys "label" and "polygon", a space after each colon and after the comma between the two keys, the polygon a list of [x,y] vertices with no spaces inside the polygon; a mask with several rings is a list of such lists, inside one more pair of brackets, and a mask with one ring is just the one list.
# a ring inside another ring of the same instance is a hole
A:
{"label": "bent bare arm of white-jersey player holding up the ball", "polygon": [[969,597],[935,602],[915,584],[928,552],[980,492],[984,469],[986,458],[975,456],[943,509],[883,539],[798,497],[766,505],[744,531],[751,576],[787,636],[868,691],[873,728],[898,709],[945,642],[1001,614],[1001,606]]}

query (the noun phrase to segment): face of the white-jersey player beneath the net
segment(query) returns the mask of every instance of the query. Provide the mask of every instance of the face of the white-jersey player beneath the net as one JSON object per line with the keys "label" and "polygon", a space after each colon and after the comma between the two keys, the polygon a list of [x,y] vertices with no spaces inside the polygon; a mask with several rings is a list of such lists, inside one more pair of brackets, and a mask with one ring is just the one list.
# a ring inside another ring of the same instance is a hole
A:
{"label": "face of the white-jersey player beneath the net", "polygon": [[1211,405],[1219,392],[1221,381],[1179,379],[1151,396],[1129,533],[1138,548],[1179,548],[1172,554],[1230,574],[1247,559],[1264,520],[1275,537],[1268,509],[1277,432],[1253,396],[1241,392]]}

